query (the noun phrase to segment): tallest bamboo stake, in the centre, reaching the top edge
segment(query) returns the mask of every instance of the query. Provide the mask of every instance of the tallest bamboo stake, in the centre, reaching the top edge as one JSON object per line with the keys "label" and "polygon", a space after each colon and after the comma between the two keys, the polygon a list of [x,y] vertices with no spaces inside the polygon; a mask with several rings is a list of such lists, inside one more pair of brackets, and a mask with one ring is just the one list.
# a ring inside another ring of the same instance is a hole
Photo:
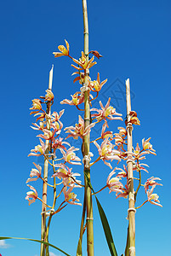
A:
{"label": "tallest bamboo stake, in the centre, reaching the top edge", "polygon": [[[88,61],[88,9],[87,1],[83,0],[83,26],[84,26],[84,54],[87,56]],[[84,86],[88,86],[88,68],[84,71],[85,79]],[[84,125],[85,128],[90,124],[90,111],[89,111],[89,91],[84,92]],[[89,153],[89,134],[83,138],[83,156]],[[93,203],[92,203],[92,193],[88,185],[88,179],[90,180],[90,167],[87,166],[84,161],[84,181],[85,181],[85,201],[86,201],[86,212],[87,212],[87,251],[88,256],[94,256],[94,228],[93,228]]]}

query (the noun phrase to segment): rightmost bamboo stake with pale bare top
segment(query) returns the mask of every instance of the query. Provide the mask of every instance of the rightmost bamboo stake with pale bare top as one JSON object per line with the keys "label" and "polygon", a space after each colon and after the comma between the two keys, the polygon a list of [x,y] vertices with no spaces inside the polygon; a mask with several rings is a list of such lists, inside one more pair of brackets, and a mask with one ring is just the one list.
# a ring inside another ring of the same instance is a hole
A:
{"label": "rightmost bamboo stake with pale bare top", "polygon": [[130,122],[131,97],[129,79],[126,80],[126,98],[127,98],[127,131],[128,131],[128,239],[125,250],[125,256],[135,256],[135,209],[134,209],[134,176],[133,162],[131,153],[133,148],[132,130],[133,126]]}

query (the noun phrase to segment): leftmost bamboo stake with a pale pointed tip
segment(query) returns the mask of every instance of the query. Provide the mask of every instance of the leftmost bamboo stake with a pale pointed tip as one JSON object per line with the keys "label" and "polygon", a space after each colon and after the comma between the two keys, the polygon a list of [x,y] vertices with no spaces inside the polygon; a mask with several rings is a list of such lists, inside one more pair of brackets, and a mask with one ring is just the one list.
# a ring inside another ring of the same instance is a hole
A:
{"label": "leftmost bamboo stake with a pale pointed tip", "polygon": [[[48,81],[48,90],[52,90],[52,79],[53,79],[53,69],[54,66],[51,68],[49,72],[49,81]],[[51,102],[47,103],[47,110],[46,113],[49,115],[51,111]],[[47,129],[50,130],[50,120],[46,119]],[[46,156],[48,155],[49,151],[49,141],[46,140]],[[48,188],[48,156],[44,158],[44,173],[43,173],[43,205],[42,205],[42,223],[41,223],[41,240],[46,241],[46,204],[47,204],[47,188]],[[41,256],[45,256],[45,246],[41,244]]]}

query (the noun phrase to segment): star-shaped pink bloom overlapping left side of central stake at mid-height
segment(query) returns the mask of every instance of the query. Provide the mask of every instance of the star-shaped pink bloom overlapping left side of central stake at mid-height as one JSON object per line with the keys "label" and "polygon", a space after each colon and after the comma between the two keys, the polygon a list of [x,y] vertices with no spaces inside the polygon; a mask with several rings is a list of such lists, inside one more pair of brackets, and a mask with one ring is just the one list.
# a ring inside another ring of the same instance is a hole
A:
{"label": "star-shaped pink bloom overlapping left side of central stake at mid-height", "polygon": [[[66,133],[70,133],[66,138],[73,137],[77,139],[77,137],[83,138],[86,136],[90,131],[91,128],[94,127],[95,124],[90,124],[86,128],[84,127],[84,120],[82,119],[81,115],[79,115],[78,124],[74,126],[69,126],[64,129]],[[71,131],[73,130],[73,131]]]}

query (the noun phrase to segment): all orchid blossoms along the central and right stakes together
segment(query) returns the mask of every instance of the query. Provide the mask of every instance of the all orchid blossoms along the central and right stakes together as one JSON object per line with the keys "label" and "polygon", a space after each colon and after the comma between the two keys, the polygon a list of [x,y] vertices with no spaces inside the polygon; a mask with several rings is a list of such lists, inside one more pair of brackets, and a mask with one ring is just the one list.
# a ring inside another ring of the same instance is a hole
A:
{"label": "all orchid blossoms along the central and right stakes together", "polygon": [[[66,40],[65,40],[66,41]],[[69,104],[72,106],[76,106],[77,109],[82,110],[78,107],[81,103],[84,102],[84,92],[89,92],[89,104],[91,106],[91,102],[96,99],[99,96],[99,92],[102,88],[102,86],[106,83],[107,79],[100,82],[100,73],[97,74],[97,79],[92,81],[88,75],[88,81],[85,82],[86,78],[86,71],[90,67],[93,67],[96,62],[94,61],[94,56],[90,58],[87,61],[87,56],[84,55],[82,52],[82,56],[79,60],[76,60],[75,58],[71,57],[70,51],[69,51],[69,44],[66,41],[66,47],[64,45],[60,45],[58,47],[60,49],[60,52],[54,52],[54,57],[59,57],[62,55],[68,56],[71,58],[72,61],[74,61],[77,66],[71,64],[71,67],[74,67],[77,69],[77,72],[73,74],[77,74],[77,78],[73,80],[75,83],[76,81],[79,81],[79,84],[82,84],[83,86],[80,88],[80,91],[75,92],[73,95],[71,95],[71,100],[65,99],[61,104]],[[96,51],[92,50],[88,54],[95,55],[98,59],[100,59],[101,55]],[[82,72],[83,71],[83,72]],[[92,92],[96,92],[96,96],[92,96]],[[122,114],[117,113],[116,109],[110,106],[111,98],[109,98],[108,102],[106,103],[105,107],[103,106],[102,102],[100,102],[100,109],[98,108],[91,108],[91,119],[92,123],[88,125],[86,128],[84,128],[84,120],[81,116],[78,118],[78,124],[75,126],[69,126],[66,127],[66,132],[69,133],[67,137],[73,137],[74,139],[77,139],[78,137],[83,137],[87,135],[91,128],[94,127],[95,124],[100,123],[103,121],[102,130],[100,137],[96,138],[93,142],[94,145],[98,148],[99,157],[97,160],[94,160],[94,162],[89,163],[89,166],[93,166],[96,162],[99,160],[103,160],[104,164],[106,166],[109,166],[111,169],[111,163],[109,161],[117,160],[117,163],[121,160],[126,160],[128,162],[133,162],[133,170],[135,172],[139,173],[139,177],[134,177],[134,180],[138,181],[137,189],[134,192],[134,201],[136,201],[137,193],[140,189],[140,187],[144,187],[145,194],[147,195],[147,201],[149,201],[151,204],[157,205],[159,207],[162,207],[160,204],[160,201],[158,200],[158,195],[153,194],[153,190],[157,185],[162,185],[161,183],[157,183],[157,180],[160,180],[159,177],[150,177],[146,180],[146,182],[143,184],[141,182],[141,172],[148,172],[145,169],[145,166],[147,166],[144,163],[141,163],[141,160],[145,160],[145,154],[156,154],[155,150],[152,148],[152,145],[150,143],[150,139],[143,139],[142,140],[142,149],[140,149],[139,144],[137,143],[136,148],[133,150],[133,153],[130,155],[128,154],[127,150],[125,149],[125,146],[127,146],[127,127],[126,129],[123,127],[118,127],[119,132],[118,133],[112,133],[112,131],[105,131],[106,128],[109,128],[107,121],[108,120],[114,120],[114,119],[120,119]],[[130,115],[130,122],[132,125],[140,125],[140,120],[137,117],[137,113],[135,111],[131,111],[129,113]],[[125,125],[127,126],[127,120],[125,121]],[[101,144],[97,143],[98,140],[102,140]],[[114,142],[114,143],[113,143]],[[90,161],[93,154],[89,152],[88,154],[88,160]],[[114,175],[117,173],[117,175],[114,177]],[[126,178],[126,183],[123,185],[122,179]],[[106,185],[101,190],[109,188],[110,193],[116,192],[117,198],[123,197],[128,198],[128,170],[127,165],[123,165],[122,168],[115,167],[113,171],[109,174],[107,177]],[[97,192],[97,193],[98,193]],[[142,207],[145,202],[140,206]],[[140,208],[136,207],[136,208]]]}

